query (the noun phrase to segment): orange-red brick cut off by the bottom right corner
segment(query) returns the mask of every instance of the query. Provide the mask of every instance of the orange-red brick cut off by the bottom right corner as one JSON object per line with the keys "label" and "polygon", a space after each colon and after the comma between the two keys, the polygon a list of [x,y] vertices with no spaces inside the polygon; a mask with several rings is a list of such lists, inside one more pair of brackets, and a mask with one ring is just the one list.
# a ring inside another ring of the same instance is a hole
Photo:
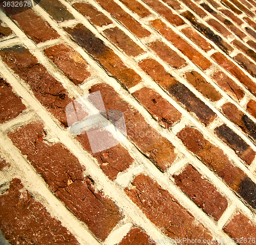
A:
{"label": "orange-red brick cut off by the bottom right corner", "polygon": [[223,230],[231,238],[234,238],[234,241],[238,244],[255,244],[256,226],[248,217],[241,213],[236,214],[228,224],[225,225]]}

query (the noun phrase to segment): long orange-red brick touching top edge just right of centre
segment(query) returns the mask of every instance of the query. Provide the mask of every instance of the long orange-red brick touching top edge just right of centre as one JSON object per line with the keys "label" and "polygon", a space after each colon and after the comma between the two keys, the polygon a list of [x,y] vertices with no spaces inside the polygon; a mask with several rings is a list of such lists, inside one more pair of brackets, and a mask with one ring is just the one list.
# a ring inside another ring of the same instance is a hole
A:
{"label": "long orange-red brick touching top edge just right of centre", "polygon": [[160,15],[166,18],[170,24],[175,26],[182,26],[185,24],[184,20],[177,14],[174,14],[172,10],[155,0],[144,0],[149,6],[151,6]]}

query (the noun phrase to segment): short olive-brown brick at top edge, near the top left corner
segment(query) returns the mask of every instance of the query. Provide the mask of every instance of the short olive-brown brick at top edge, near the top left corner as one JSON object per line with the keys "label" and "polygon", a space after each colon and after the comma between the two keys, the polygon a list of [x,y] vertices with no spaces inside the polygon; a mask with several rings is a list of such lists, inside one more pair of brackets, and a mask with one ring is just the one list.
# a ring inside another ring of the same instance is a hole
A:
{"label": "short olive-brown brick at top edge, near the top left corner", "polygon": [[39,1],[39,5],[58,22],[74,19],[74,16],[58,0]]}

